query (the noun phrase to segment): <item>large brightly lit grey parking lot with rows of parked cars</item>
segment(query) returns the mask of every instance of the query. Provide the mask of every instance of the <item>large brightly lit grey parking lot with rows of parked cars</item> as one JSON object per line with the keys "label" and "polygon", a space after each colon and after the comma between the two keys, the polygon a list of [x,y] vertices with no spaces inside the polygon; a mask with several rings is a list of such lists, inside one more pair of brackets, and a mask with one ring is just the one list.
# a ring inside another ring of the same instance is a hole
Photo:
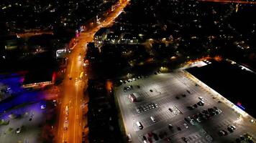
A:
{"label": "large brightly lit grey parking lot with rows of parked cars", "polygon": [[250,142],[247,134],[256,136],[255,124],[239,117],[183,71],[130,79],[114,92],[132,142],[237,142],[237,138]]}

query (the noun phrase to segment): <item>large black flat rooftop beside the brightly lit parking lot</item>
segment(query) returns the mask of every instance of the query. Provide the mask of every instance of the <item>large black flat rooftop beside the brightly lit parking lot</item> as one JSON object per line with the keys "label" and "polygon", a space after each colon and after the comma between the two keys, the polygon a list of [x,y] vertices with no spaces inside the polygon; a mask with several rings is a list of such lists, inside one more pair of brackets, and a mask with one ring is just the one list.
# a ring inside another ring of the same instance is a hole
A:
{"label": "large black flat rooftop beside the brightly lit parking lot", "polygon": [[186,70],[232,103],[241,103],[245,112],[256,117],[255,103],[252,102],[256,93],[255,73],[228,61],[211,61],[206,66]]}

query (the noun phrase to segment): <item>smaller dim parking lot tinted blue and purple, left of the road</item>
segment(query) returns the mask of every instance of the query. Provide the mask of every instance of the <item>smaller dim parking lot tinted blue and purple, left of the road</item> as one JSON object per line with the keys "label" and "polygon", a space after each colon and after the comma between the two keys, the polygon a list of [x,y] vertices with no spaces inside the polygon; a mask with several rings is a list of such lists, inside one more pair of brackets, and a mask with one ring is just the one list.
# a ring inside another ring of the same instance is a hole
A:
{"label": "smaller dim parking lot tinted blue and purple, left of the road", "polygon": [[[0,125],[0,142],[42,142],[42,122],[44,119],[40,103],[29,104],[26,107],[13,109],[1,116],[6,124]],[[7,122],[8,121],[8,122]]]}

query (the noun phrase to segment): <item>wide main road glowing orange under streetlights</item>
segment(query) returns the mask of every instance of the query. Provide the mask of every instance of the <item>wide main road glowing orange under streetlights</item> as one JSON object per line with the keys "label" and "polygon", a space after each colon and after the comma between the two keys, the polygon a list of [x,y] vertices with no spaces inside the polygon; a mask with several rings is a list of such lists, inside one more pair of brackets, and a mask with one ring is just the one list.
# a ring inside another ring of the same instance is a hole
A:
{"label": "wide main road glowing orange under streetlights", "polygon": [[[119,1],[119,4],[115,6],[116,9],[106,14],[107,16],[105,16],[105,19],[100,24],[94,22],[85,32],[81,33],[81,36],[78,37],[78,43],[68,56],[65,79],[63,80],[63,84],[60,85],[62,94],[59,99],[61,104],[59,108],[60,114],[58,116],[56,142],[82,142],[82,132],[86,130],[83,127],[87,126],[87,123],[83,122],[83,113],[86,112],[86,103],[88,102],[88,97],[83,96],[83,90],[88,87],[86,68],[83,68],[86,45],[88,42],[93,41],[93,35],[96,31],[101,29],[101,27],[111,24],[122,13],[127,4],[129,4],[129,0]],[[82,72],[83,79],[79,79]],[[64,129],[64,124],[68,127],[67,129]],[[88,137],[88,132],[85,133],[85,136]]]}

